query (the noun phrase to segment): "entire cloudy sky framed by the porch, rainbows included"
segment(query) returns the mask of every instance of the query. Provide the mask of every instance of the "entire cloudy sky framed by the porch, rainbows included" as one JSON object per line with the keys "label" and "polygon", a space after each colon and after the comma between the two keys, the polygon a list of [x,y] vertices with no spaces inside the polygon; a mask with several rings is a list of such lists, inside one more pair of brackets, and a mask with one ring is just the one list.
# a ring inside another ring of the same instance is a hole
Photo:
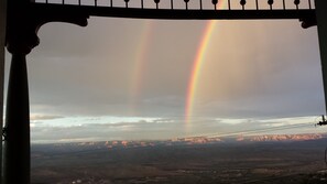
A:
{"label": "entire cloudy sky framed by the porch, rainbows included", "polygon": [[298,20],[91,17],[39,36],[28,56],[32,142],[327,130],[314,127],[325,113],[317,29]]}

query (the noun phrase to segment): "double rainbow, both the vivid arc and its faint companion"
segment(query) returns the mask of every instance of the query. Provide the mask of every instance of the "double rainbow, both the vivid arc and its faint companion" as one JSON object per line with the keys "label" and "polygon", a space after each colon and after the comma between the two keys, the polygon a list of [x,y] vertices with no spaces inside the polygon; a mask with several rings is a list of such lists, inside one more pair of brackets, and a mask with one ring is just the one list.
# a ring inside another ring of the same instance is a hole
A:
{"label": "double rainbow, both the vivid arc and its faint companion", "polygon": [[[218,3],[217,11],[224,8],[224,4],[226,4],[226,0],[220,0]],[[186,91],[186,102],[185,102],[185,122],[186,123],[190,123],[192,121],[192,116],[194,113],[194,107],[195,107],[195,99],[197,96],[197,86],[199,83],[201,68],[206,61],[207,48],[211,40],[212,33],[215,31],[216,24],[217,23],[215,20],[207,21],[206,26],[204,29],[203,36],[200,39],[199,46],[195,55],[195,59],[193,62],[192,72],[189,75],[188,86]],[[152,21],[144,22],[144,26],[142,31],[143,34],[141,35],[140,45],[138,46],[138,51],[135,52],[138,54],[134,57],[135,63],[134,63],[134,67],[132,67],[133,72],[132,72],[132,78],[131,78],[132,80],[131,91],[133,91],[133,94],[131,94],[132,108],[130,110],[133,112],[135,112],[135,109],[137,109],[134,107],[135,105],[134,100],[138,98],[140,94],[140,88],[142,86],[141,84],[142,74],[144,72],[144,67],[145,67],[144,65],[146,61],[145,53],[146,53],[146,50],[149,48],[152,28],[153,28]]]}

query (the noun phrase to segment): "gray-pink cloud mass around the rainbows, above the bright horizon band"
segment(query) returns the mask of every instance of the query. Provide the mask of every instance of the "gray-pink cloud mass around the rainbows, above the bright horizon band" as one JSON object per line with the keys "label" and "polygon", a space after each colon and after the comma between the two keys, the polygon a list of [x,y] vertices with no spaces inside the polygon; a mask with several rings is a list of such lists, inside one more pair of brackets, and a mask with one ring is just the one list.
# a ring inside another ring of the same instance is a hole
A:
{"label": "gray-pink cloud mass around the rainbows, above the bright horizon band", "polygon": [[[86,29],[61,24],[43,28],[42,44],[30,63],[32,105],[51,105],[48,110],[68,115],[128,116],[133,106],[141,116],[183,116],[204,22],[152,24],[141,91],[139,99],[132,100],[130,66],[142,42],[138,40],[142,23],[91,19]],[[316,29],[302,30],[295,21],[222,21],[217,31],[198,89],[204,91],[197,97],[204,105],[198,113],[321,113]]]}

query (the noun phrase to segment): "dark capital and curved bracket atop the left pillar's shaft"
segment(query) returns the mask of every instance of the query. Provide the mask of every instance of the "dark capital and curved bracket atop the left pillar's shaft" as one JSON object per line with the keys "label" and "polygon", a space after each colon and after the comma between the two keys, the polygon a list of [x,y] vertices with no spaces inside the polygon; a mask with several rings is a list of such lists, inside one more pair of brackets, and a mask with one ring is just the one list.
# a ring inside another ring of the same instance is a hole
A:
{"label": "dark capital and curved bracket atop the left pillar's shaft", "polygon": [[10,53],[28,55],[40,44],[37,32],[48,22],[67,22],[80,26],[87,25],[88,14],[80,12],[57,12],[36,9],[33,3],[8,2],[8,24],[6,46]]}

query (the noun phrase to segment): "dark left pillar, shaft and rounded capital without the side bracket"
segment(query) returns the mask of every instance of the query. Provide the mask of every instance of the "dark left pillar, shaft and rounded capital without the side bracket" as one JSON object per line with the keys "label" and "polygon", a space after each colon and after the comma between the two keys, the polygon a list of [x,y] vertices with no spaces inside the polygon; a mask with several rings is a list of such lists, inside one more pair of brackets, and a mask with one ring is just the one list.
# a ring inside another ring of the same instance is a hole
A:
{"label": "dark left pillar, shaft and rounded capital without the side bracket", "polygon": [[[12,54],[9,74],[3,150],[3,183],[30,184],[30,105],[26,55],[39,44],[28,11],[9,8],[7,48]],[[15,13],[19,11],[20,13]]]}

